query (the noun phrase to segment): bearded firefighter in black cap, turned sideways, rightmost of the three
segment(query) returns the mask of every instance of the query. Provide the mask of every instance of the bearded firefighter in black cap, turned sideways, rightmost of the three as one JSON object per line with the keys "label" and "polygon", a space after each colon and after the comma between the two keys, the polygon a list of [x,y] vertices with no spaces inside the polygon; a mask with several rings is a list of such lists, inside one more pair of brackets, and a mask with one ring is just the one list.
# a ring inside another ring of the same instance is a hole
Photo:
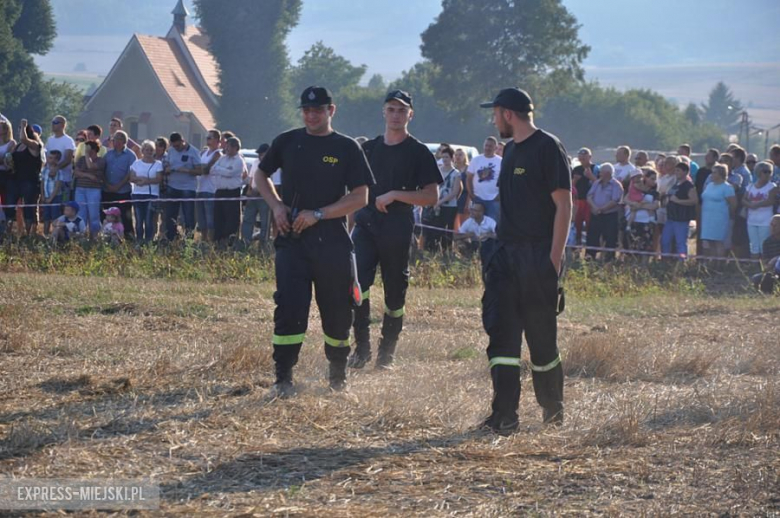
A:
{"label": "bearded firefighter in black cap, turned sideways, rightmost of the three", "polygon": [[571,224],[571,167],[558,138],[534,125],[526,92],[504,89],[482,107],[493,108],[501,137],[512,139],[498,179],[498,245],[484,266],[482,321],[490,338],[493,412],[483,426],[512,433],[518,428],[523,335],[543,420],[563,422],[558,278]]}

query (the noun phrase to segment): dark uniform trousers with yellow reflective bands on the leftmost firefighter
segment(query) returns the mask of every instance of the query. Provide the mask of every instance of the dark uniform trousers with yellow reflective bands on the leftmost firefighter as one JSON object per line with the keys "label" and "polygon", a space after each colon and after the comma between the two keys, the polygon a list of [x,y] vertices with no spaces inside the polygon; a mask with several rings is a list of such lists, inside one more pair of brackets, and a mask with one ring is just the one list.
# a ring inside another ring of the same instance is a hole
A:
{"label": "dark uniform trousers with yellow reflective bands on the leftmost firefighter", "polygon": [[[277,376],[298,362],[309,323],[312,285],[325,335],[325,355],[345,362],[352,325],[352,273],[349,236],[324,237],[312,227],[294,238],[279,236],[276,247],[274,361]],[[343,232],[343,231],[342,231]]]}

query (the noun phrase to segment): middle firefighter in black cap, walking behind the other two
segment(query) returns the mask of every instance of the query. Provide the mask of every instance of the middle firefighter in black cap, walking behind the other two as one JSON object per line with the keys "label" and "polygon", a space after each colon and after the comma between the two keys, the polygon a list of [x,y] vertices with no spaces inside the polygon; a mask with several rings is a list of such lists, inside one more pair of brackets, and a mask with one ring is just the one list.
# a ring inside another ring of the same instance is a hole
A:
{"label": "middle firefighter in black cap, walking behind the other two", "polygon": [[382,113],[385,133],[363,144],[376,184],[368,206],[355,214],[358,278],[363,303],[355,309],[355,352],[350,367],[359,369],[371,360],[369,291],[377,265],[382,269],[385,311],[377,368],[393,362],[401,333],[409,286],[409,251],[414,231],[413,207],[433,205],[442,183],[436,159],[425,144],[409,134],[414,115],[412,97],[402,90],[387,94]]}

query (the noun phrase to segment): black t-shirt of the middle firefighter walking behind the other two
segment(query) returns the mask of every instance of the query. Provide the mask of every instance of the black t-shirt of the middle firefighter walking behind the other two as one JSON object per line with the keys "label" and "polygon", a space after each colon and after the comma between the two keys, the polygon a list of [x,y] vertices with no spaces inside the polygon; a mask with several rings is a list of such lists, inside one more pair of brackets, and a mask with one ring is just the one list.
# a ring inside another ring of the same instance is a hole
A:
{"label": "black t-shirt of the middle firefighter walking behind the other two", "polygon": [[[394,146],[385,144],[383,136],[363,144],[376,184],[371,187],[368,206],[374,207],[377,196],[390,191],[416,191],[432,183],[443,182],[436,158],[428,147],[409,135]],[[389,210],[411,209],[411,205],[396,201]]]}

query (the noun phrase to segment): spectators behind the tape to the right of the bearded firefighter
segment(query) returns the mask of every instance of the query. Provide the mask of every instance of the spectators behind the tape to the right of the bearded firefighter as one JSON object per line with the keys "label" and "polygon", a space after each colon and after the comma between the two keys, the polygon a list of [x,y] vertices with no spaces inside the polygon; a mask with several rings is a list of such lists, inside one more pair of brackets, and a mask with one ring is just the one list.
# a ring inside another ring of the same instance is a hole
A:
{"label": "spectators behind the tape to the right of the bearded firefighter", "polygon": [[780,146],[761,162],[736,144],[708,150],[701,166],[690,155],[688,145],[654,160],[640,151],[632,164],[631,150],[621,146],[615,163],[596,165],[591,151],[580,149],[572,170],[573,242],[585,235],[586,257],[604,261],[617,249],[687,257],[694,242],[700,256],[771,259],[764,246],[780,205]]}

